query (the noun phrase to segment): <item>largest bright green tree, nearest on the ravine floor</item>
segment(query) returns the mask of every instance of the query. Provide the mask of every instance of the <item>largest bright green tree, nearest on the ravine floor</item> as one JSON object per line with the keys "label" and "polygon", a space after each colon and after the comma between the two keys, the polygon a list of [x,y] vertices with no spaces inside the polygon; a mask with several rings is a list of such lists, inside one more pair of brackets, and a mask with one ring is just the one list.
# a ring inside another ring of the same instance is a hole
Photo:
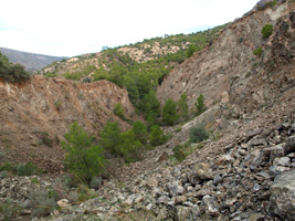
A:
{"label": "largest bright green tree, nearest on the ravine floor", "polygon": [[105,164],[104,149],[75,122],[70,125],[61,145],[65,150],[64,165],[81,180],[88,183],[93,176],[101,175]]}

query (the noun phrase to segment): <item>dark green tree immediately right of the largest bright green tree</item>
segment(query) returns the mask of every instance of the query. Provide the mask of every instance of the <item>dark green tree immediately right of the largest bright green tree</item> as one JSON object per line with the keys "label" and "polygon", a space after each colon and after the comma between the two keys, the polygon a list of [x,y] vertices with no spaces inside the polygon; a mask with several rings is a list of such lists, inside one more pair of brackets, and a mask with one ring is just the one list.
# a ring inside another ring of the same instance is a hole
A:
{"label": "dark green tree immediately right of the largest bright green tree", "polygon": [[114,156],[122,155],[118,145],[122,141],[120,129],[117,122],[107,122],[101,131],[101,146]]}

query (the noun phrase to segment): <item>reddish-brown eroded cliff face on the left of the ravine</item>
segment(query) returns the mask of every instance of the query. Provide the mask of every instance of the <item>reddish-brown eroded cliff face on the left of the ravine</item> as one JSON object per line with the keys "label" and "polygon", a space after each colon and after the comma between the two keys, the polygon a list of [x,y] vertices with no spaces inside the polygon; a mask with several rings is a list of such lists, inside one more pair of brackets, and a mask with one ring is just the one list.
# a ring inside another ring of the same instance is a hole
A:
{"label": "reddish-brown eroded cliff face on the left of the ravine", "polygon": [[116,104],[127,116],[134,112],[127,91],[107,81],[77,84],[33,76],[23,85],[0,82],[0,102],[2,150],[12,160],[33,161],[49,171],[62,169],[59,140],[70,124],[77,120],[97,135],[108,119],[119,120],[113,113]]}

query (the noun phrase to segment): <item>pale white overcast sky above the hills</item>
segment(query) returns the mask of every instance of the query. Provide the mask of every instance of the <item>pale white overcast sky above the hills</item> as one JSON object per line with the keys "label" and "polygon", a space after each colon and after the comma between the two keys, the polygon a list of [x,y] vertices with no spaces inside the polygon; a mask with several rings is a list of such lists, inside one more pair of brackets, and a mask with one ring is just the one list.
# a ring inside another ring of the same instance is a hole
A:
{"label": "pale white overcast sky above the hills", "polygon": [[231,22],[257,0],[6,0],[0,46],[75,56]]}

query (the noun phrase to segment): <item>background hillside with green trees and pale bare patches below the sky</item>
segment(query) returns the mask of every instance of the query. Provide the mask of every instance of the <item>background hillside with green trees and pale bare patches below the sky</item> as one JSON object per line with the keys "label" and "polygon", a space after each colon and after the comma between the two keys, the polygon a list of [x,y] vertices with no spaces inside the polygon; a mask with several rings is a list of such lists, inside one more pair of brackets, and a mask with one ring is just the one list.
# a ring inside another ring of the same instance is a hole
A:
{"label": "background hillside with green trees and pale bare patches below the sky", "polygon": [[138,107],[140,99],[150,91],[155,91],[176,64],[210,44],[224,27],[105,49],[101,53],[55,62],[44,67],[41,74],[81,82],[110,81],[120,87],[126,86],[131,103]]}

